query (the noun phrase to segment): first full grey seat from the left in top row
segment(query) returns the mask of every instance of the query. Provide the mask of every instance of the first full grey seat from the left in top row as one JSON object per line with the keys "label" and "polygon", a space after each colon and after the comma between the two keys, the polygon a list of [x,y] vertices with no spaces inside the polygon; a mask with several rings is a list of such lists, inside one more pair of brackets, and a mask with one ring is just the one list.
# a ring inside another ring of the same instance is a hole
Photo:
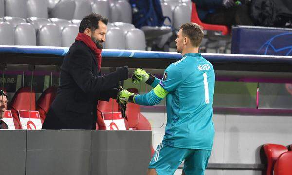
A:
{"label": "first full grey seat from the left in top row", "polygon": [[5,16],[27,18],[27,0],[5,0]]}

